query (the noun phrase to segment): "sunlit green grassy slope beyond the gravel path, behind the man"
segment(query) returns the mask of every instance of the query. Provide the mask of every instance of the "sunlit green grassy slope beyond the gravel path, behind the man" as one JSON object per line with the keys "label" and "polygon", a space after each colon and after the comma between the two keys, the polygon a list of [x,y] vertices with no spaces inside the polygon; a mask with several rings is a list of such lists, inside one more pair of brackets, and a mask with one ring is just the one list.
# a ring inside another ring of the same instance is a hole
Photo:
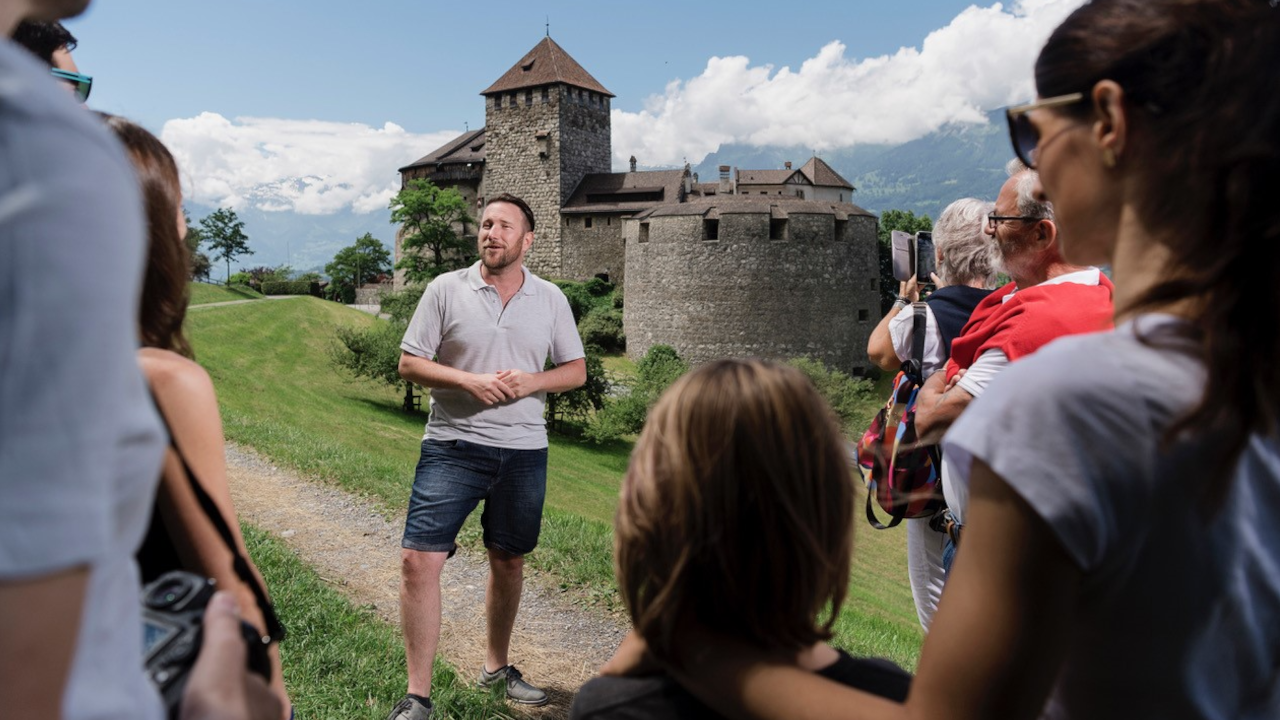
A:
{"label": "sunlit green grassy slope beyond the gravel path, behind the man", "polygon": [[[233,297],[206,302],[221,300]],[[397,389],[349,379],[328,357],[337,325],[375,322],[301,297],[209,307],[188,316],[188,332],[216,384],[229,439],[369,498],[397,518],[407,503],[425,415],[399,411]],[[611,525],[630,450],[627,442],[600,447],[552,436],[543,538],[529,556],[531,568],[554,578],[577,602],[612,612],[621,606]],[[479,523],[468,523],[460,542],[477,547]],[[863,524],[856,543],[850,597],[835,642],[911,669],[920,630],[906,582],[905,532],[879,533]],[[364,621],[380,624],[374,618]],[[293,692],[308,691],[289,679]]]}

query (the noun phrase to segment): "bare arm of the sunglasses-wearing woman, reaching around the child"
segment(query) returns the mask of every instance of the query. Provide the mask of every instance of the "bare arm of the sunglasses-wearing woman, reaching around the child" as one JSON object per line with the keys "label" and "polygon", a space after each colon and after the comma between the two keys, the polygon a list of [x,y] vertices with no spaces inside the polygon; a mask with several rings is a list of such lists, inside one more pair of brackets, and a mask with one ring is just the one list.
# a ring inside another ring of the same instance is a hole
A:
{"label": "bare arm of the sunglasses-wearing woman, reaching around the child", "polygon": [[696,629],[682,630],[686,642],[672,675],[731,717],[1037,717],[1074,632],[1082,573],[1048,525],[980,461],[969,518],[965,551],[956,556],[905,705]]}

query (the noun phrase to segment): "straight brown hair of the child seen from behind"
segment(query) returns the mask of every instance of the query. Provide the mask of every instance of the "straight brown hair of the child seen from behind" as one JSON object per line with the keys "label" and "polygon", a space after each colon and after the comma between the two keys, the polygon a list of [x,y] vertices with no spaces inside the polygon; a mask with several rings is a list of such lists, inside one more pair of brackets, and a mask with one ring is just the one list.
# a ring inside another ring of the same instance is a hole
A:
{"label": "straight brown hair of the child seen from behind", "polygon": [[649,414],[622,483],[614,559],[635,629],[659,657],[686,621],[781,653],[831,638],[854,488],[803,373],[762,360],[689,373]]}

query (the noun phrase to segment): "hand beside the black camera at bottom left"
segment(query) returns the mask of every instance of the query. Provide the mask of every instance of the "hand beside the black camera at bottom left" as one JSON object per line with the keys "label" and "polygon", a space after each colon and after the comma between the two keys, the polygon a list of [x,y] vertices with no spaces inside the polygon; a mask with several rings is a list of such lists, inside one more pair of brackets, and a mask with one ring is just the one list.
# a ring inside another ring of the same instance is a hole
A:
{"label": "hand beside the black camera at bottom left", "polygon": [[266,680],[250,673],[241,637],[239,609],[229,591],[219,591],[205,609],[200,656],[182,696],[180,720],[279,720],[280,698]]}

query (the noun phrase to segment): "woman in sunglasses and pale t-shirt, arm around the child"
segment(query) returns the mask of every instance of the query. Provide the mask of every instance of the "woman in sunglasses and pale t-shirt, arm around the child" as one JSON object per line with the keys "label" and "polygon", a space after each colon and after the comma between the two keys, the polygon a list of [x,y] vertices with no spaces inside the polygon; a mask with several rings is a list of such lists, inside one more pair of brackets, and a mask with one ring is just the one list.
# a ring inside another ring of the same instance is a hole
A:
{"label": "woman in sunglasses and pale t-shirt, arm around the child", "polygon": [[905,705],[705,635],[681,683],[733,716],[1280,717],[1277,67],[1262,0],[1096,0],[1053,32],[1014,142],[1064,255],[1111,264],[1116,329],[1015,363],[947,434],[965,552]]}

